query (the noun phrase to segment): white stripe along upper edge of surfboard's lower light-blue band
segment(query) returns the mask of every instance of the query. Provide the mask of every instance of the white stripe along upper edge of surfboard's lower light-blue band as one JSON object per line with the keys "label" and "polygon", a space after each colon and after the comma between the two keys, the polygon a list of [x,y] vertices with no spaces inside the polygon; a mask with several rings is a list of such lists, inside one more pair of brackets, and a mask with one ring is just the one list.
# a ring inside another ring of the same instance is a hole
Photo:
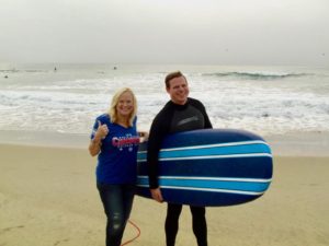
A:
{"label": "white stripe along upper edge of surfboard's lower light-blue band", "polygon": [[[146,175],[138,175],[138,178],[148,179]],[[249,181],[270,183],[272,178],[226,178],[226,177],[188,177],[188,176],[159,176],[159,179],[184,179],[184,180],[209,180],[209,181]]]}

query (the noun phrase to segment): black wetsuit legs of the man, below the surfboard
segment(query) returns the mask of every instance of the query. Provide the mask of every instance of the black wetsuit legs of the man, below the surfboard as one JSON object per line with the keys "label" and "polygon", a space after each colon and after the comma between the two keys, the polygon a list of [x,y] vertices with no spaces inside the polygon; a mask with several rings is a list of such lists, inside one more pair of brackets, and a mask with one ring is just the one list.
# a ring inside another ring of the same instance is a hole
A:
{"label": "black wetsuit legs of the man, below the surfboard", "polygon": [[[204,207],[190,206],[192,213],[192,227],[198,246],[207,246],[207,224]],[[175,236],[179,230],[179,218],[182,204],[168,203],[166,218],[166,242],[167,246],[174,246]]]}

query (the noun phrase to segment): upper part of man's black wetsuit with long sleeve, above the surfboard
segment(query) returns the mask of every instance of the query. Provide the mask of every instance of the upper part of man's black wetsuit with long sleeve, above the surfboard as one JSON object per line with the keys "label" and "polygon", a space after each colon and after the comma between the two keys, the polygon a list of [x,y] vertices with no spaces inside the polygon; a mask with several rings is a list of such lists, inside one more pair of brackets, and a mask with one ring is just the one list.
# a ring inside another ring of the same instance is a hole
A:
{"label": "upper part of man's black wetsuit with long sleeve, above the surfboard", "polygon": [[152,121],[148,148],[147,163],[149,168],[150,188],[158,188],[158,155],[164,137],[169,133],[212,128],[204,105],[193,98],[188,98],[184,105],[171,101],[159,112]]}

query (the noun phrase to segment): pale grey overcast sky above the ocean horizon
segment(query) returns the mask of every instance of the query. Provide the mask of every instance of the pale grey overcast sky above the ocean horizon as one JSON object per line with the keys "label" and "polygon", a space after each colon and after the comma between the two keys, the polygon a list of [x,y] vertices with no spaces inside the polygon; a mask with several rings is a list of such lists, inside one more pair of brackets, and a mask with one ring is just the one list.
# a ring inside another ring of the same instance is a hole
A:
{"label": "pale grey overcast sky above the ocean horizon", "polygon": [[0,62],[329,65],[329,0],[0,0]]}

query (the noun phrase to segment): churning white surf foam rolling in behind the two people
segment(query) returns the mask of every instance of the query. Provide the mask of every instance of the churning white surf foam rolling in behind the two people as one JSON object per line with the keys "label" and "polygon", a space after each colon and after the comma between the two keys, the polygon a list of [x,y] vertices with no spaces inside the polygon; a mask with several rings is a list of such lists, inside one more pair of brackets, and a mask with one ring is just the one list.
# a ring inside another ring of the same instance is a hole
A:
{"label": "churning white surf foam rolling in behind the two people", "polygon": [[[166,73],[158,71],[141,69],[95,75],[94,70],[90,70],[79,78],[69,72],[56,78],[58,73],[44,72],[36,77],[22,71],[12,82],[0,83],[0,130],[89,134],[94,118],[107,109],[112,94],[121,86],[135,91],[138,125],[148,130],[169,99],[163,84]],[[263,72],[257,71],[269,77],[304,74],[300,71],[271,72],[268,68]],[[313,75],[315,81],[302,75],[282,80],[227,81],[189,71],[186,77],[190,95],[204,103],[215,128],[238,128],[261,134],[329,131],[328,75]]]}

